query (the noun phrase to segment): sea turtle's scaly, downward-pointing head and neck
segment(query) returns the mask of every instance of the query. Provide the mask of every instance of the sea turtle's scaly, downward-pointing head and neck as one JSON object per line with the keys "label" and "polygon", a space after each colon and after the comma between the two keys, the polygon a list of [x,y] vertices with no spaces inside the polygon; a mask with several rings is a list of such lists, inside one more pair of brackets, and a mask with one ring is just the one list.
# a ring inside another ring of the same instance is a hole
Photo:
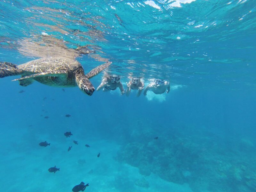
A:
{"label": "sea turtle's scaly, downward-pointing head and neck", "polygon": [[95,90],[90,80],[84,74],[76,74],[76,84],[82,92],[86,93],[89,96],[91,96]]}

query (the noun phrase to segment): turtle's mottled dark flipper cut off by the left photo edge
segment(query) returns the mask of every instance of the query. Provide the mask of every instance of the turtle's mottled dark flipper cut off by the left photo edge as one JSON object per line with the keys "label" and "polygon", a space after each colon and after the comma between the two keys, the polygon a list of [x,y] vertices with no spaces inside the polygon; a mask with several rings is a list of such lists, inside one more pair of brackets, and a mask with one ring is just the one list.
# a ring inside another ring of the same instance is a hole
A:
{"label": "turtle's mottled dark flipper cut off by the left photo edge", "polygon": [[0,78],[14,75],[21,75],[23,71],[18,68],[18,65],[0,62]]}

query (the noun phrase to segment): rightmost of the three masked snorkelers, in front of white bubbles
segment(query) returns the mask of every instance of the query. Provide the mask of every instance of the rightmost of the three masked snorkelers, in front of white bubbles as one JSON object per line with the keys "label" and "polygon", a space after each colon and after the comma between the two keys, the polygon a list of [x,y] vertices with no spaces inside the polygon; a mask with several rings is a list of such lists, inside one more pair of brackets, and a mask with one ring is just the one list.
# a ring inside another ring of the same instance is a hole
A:
{"label": "rightmost of the three masked snorkelers, in front of white bubbles", "polygon": [[[167,91],[166,91],[167,89]],[[144,95],[147,95],[147,91],[153,91],[155,94],[162,94],[166,91],[166,93],[170,92],[170,82],[160,79],[155,79],[154,82],[148,84],[144,91]]]}

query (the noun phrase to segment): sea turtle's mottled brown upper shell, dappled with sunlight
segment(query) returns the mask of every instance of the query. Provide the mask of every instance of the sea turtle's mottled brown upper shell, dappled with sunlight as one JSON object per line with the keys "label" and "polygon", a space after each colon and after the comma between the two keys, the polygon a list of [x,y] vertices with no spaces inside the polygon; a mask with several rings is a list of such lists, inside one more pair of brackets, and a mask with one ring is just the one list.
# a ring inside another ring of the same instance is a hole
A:
{"label": "sea turtle's mottled brown upper shell, dappled with sunlight", "polygon": [[82,65],[76,60],[65,57],[53,57],[28,61],[27,63],[19,65],[18,68],[31,73],[42,73],[60,69],[74,72],[76,69],[82,68]]}

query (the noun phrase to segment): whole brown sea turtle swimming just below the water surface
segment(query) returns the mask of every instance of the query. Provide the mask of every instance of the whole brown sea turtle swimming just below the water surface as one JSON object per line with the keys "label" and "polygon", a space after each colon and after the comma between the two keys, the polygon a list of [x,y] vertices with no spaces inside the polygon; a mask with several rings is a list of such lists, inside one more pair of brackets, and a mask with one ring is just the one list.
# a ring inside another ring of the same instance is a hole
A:
{"label": "whole brown sea turtle swimming just below the water surface", "polygon": [[84,68],[78,61],[65,57],[41,58],[21,65],[0,62],[0,78],[21,75],[21,78],[12,80],[20,81],[21,86],[28,86],[34,80],[56,87],[78,86],[81,91],[91,96],[95,89],[89,79],[111,63],[106,62],[85,75]]}

